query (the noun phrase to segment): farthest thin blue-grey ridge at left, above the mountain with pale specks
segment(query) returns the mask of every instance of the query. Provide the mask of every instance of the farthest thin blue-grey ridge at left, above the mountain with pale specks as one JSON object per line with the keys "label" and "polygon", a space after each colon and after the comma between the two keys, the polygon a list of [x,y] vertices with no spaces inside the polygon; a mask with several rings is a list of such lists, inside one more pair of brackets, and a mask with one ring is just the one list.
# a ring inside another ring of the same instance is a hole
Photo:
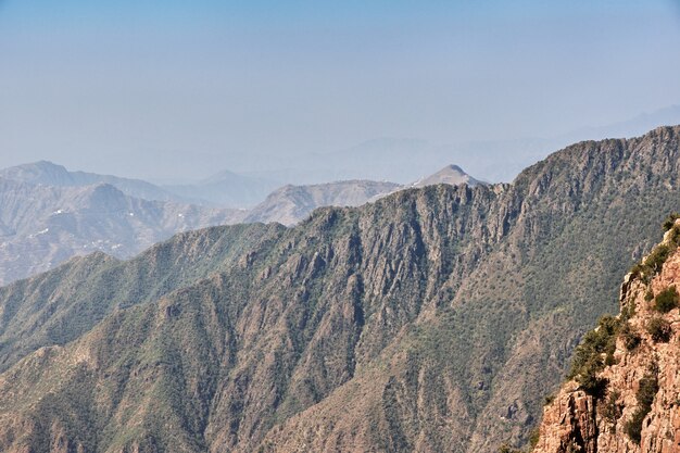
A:
{"label": "farthest thin blue-grey ridge at left, above the mountain with pale specks", "polygon": [[139,179],[98,175],[86,172],[70,172],[62,165],[40,161],[0,169],[0,178],[32,185],[54,187],[84,187],[109,184],[123,193],[144,200],[186,202],[177,194]]}

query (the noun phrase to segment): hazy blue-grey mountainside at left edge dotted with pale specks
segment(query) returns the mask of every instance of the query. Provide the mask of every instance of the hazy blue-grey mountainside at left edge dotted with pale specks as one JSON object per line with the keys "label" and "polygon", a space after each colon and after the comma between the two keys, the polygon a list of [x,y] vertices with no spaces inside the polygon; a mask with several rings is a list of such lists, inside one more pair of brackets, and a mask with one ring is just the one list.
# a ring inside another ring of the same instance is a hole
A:
{"label": "hazy blue-grey mountainside at left edge dotted with pale specks", "polygon": [[0,178],[0,282],[100,250],[129,257],[173,234],[242,213],[124,194],[110,185],[53,187]]}

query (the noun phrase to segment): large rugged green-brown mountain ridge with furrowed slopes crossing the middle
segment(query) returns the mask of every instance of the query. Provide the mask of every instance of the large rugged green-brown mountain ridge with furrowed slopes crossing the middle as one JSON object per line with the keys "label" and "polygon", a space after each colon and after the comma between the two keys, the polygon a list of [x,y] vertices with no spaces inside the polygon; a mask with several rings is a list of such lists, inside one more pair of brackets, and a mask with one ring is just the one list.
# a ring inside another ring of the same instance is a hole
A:
{"label": "large rugged green-brown mountain ridge with furrowed slopes crossing the middle", "polygon": [[[64,316],[60,305],[17,319],[4,335],[30,338],[24,351],[35,352],[5,352],[0,450],[471,453],[521,443],[581,334],[616,310],[619,276],[679,210],[679,134],[578,143],[512,185],[317,210],[167,291],[106,302],[95,318],[74,310],[67,318],[84,335],[71,343],[40,334]],[[221,243],[236,234],[211,231]],[[187,248],[199,259],[186,268],[202,262],[204,244],[186,238],[164,262],[181,263]],[[99,300],[137,281],[133,263],[14,288],[60,301],[77,281],[95,294],[83,300]],[[142,284],[168,272],[138,263],[151,272]],[[36,311],[11,292],[2,319]]]}

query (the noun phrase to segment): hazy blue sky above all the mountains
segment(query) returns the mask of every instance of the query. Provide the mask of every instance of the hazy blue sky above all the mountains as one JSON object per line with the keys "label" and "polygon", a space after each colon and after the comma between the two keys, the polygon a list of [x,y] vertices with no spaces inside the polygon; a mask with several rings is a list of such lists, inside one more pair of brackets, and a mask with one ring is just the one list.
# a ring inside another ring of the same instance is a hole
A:
{"label": "hazy blue sky above all the mountains", "polygon": [[236,153],[550,137],[679,102],[678,0],[0,0],[0,166],[198,177]]}

